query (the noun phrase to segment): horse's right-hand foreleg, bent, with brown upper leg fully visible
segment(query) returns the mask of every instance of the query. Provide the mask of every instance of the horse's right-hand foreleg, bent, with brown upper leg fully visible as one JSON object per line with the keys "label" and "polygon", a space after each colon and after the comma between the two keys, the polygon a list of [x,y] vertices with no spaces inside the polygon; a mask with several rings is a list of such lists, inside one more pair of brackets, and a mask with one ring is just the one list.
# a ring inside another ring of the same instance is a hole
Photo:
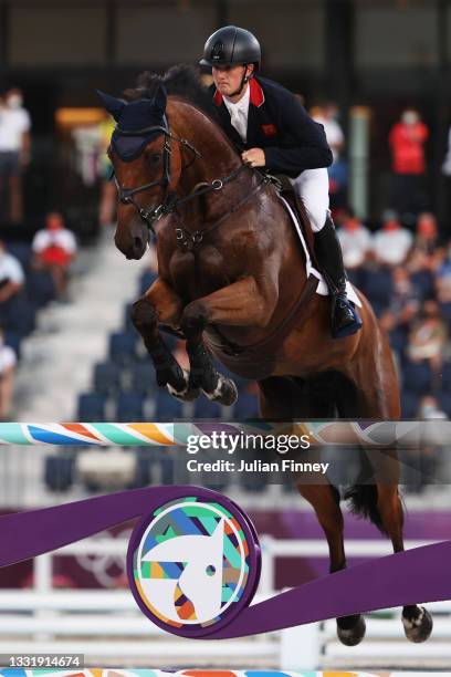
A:
{"label": "horse's right-hand foreleg, bent, with brown upper leg fully visible", "polygon": [[266,312],[268,304],[254,278],[239,280],[189,303],[183,310],[180,324],[187,337],[191,387],[202,388],[210,399],[232,405],[237,399],[235,385],[214,368],[203,345],[202,332],[208,324],[263,326],[273,308]]}

